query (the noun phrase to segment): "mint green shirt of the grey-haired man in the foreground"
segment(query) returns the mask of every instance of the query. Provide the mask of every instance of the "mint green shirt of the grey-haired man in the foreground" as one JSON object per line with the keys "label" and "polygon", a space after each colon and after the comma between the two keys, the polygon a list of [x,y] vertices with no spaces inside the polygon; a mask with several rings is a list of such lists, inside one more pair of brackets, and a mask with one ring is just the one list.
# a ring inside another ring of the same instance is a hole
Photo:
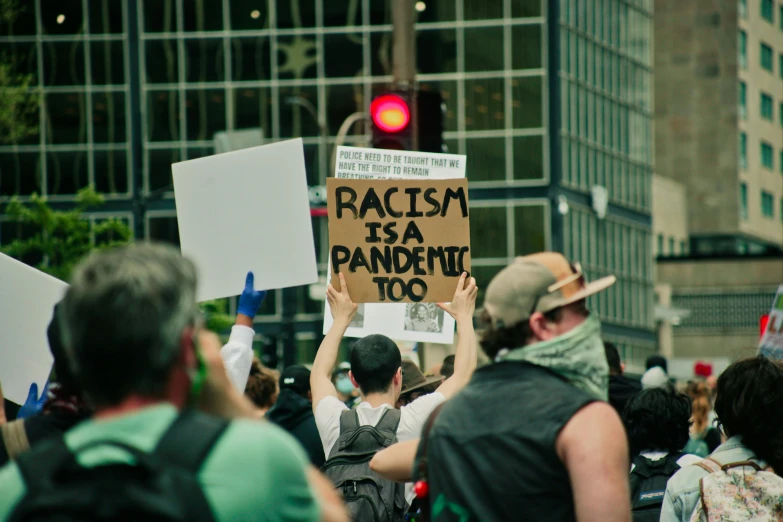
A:
{"label": "mint green shirt of the grey-haired man in the foreground", "polygon": [[[145,408],[116,419],[85,421],[65,435],[70,448],[97,440],[124,442],[151,452],[177,416],[170,405]],[[34,451],[34,450],[33,450]],[[82,466],[132,463],[116,447],[95,447],[77,457]],[[305,478],[307,457],[290,435],[264,421],[233,421],[199,472],[198,480],[217,521],[318,520],[319,508]],[[18,468],[0,469],[0,520],[25,493]]]}

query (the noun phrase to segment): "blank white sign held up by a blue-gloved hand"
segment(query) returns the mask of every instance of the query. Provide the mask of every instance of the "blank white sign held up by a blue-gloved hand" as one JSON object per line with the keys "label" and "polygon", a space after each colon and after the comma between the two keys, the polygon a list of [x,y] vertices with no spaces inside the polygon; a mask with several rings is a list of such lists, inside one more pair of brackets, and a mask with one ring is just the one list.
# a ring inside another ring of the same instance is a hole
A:
{"label": "blank white sign held up by a blue-gloved hand", "polygon": [[301,139],[171,166],[182,255],[198,268],[198,300],[318,281]]}

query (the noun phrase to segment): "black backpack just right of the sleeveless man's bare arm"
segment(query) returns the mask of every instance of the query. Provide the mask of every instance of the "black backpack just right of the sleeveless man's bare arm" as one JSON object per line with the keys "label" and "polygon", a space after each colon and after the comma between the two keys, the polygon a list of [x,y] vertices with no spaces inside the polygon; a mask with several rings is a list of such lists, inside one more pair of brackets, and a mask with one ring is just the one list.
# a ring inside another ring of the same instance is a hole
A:
{"label": "black backpack just right of the sleeveless man's bare arm", "polygon": [[662,459],[650,460],[637,455],[631,471],[631,511],[634,522],[658,522],[661,518],[666,483],[677,473],[677,461],[683,453],[669,453]]}

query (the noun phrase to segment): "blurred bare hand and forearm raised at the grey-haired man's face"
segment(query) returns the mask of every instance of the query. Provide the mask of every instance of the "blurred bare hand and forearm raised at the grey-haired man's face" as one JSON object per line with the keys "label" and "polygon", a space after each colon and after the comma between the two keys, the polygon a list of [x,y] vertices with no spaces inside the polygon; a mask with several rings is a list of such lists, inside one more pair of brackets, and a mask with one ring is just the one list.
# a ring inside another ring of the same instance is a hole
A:
{"label": "blurred bare hand and forearm raised at the grey-haired man's face", "polygon": [[220,339],[208,330],[198,333],[198,347],[207,367],[204,385],[199,394],[199,408],[209,414],[225,419],[252,418],[254,408],[250,401],[240,394],[226,373],[223,357],[220,355]]}

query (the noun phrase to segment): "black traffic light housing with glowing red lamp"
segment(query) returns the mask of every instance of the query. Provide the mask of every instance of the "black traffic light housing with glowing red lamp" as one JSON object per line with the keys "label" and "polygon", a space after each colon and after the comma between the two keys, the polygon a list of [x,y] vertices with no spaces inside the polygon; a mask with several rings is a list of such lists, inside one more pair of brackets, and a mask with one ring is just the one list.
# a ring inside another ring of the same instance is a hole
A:
{"label": "black traffic light housing with glowing red lamp", "polygon": [[379,93],[370,104],[370,119],[376,149],[443,152],[443,100],[438,92]]}

